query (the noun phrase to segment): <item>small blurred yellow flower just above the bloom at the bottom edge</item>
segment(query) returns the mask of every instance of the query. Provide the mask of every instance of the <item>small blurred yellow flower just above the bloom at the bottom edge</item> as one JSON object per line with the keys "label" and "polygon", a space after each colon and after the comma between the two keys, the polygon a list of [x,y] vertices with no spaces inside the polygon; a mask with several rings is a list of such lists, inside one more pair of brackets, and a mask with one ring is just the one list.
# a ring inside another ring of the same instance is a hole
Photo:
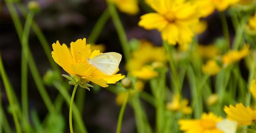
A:
{"label": "small blurred yellow flower just above the bloom at the bottom edge", "polygon": [[166,109],[170,111],[181,111],[184,114],[191,114],[192,108],[188,106],[188,99],[180,101],[180,95],[176,94],[172,98],[172,102],[166,103]]}

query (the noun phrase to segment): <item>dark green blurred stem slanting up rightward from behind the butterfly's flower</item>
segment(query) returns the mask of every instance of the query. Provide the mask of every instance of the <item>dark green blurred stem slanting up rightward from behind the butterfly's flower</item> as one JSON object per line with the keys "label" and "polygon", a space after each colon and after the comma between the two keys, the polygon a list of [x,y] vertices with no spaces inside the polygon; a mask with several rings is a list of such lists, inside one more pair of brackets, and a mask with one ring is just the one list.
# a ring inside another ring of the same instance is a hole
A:
{"label": "dark green blurred stem slanting up rightward from behind the butterfly's flower", "polygon": [[89,44],[93,44],[96,42],[97,38],[100,35],[100,32],[102,31],[104,25],[107,23],[107,21],[109,20],[109,9],[107,8],[99,17],[99,19],[97,20],[95,26],[92,29],[92,32],[90,33],[89,37],[88,37],[88,43]]}

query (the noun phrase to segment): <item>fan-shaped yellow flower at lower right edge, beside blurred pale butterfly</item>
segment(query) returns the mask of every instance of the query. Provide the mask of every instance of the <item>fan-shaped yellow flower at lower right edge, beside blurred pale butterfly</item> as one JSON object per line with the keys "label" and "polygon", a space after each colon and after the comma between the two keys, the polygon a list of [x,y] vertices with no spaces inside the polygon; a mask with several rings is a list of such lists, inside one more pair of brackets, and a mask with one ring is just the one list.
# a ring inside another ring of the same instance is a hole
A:
{"label": "fan-shaped yellow flower at lower right edge, beside blurred pale butterfly", "polygon": [[256,110],[252,110],[249,106],[245,108],[242,103],[236,104],[236,107],[225,106],[224,111],[229,120],[237,121],[241,125],[251,125],[252,120],[256,120]]}

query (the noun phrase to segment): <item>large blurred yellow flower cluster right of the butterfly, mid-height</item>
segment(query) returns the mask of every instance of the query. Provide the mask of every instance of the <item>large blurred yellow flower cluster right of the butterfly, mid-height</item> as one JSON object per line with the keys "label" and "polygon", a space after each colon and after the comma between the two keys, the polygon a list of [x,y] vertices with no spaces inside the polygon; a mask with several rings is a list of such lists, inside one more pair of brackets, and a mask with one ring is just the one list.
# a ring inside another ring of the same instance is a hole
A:
{"label": "large blurred yellow flower cluster right of the butterfly, mid-height", "polygon": [[126,69],[137,78],[151,79],[158,76],[154,68],[159,68],[166,61],[165,50],[154,47],[152,43],[141,40],[139,48],[132,52],[132,58],[126,64]]}

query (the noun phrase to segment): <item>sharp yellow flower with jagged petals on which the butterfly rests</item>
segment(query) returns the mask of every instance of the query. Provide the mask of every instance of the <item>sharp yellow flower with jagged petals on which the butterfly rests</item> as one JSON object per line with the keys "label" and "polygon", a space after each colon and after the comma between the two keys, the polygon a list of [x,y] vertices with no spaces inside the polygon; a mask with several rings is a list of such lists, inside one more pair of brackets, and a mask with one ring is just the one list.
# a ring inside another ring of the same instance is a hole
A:
{"label": "sharp yellow flower with jagged petals on which the butterfly rests", "polygon": [[[116,83],[124,78],[121,74],[105,75],[95,67],[88,64],[87,58],[91,59],[96,55],[101,54],[99,50],[91,52],[90,45],[86,45],[86,39],[78,39],[76,42],[71,42],[71,50],[59,41],[52,44],[52,58],[60,65],[71,77],[75,78],[76,82],[81,82],[79,85],[92,81],[102,87],[107,87],[107,83]],[[119,71],[119,69],[117,70]],[[116,72],[117,72],[116,71]],[[65,76],[66,77],[66,76]]]}

